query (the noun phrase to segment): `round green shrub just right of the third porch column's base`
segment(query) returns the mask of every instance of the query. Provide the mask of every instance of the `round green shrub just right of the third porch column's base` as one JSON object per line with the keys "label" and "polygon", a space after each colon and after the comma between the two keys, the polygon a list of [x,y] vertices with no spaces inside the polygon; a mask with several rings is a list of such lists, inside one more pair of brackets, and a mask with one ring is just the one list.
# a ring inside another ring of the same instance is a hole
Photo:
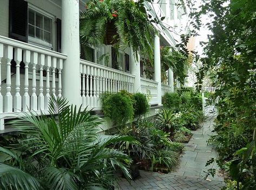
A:
{"label": "round green shrub just right of the third porch column's base", "polygon": [[181,98],[178,93],[167,92],[162,97],[162,104],[166,108],[172,108],[173,110],[178,110],[181,104]]}

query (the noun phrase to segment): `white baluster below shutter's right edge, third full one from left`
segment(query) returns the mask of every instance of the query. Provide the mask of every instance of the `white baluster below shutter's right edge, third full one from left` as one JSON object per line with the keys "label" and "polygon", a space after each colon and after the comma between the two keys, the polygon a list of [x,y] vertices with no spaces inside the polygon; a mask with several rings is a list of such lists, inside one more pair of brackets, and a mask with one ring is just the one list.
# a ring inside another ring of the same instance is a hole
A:
{"label": "white baluster below shutter's right edge, third full one from left", "polygon": [[24,94],[22,97],[22,110],[24,112],[30,110],[30,97],[29,97],[29,63],[30,63],[30,51],[24,50],[23,62],[25,64],[25,78],[24,78]]}

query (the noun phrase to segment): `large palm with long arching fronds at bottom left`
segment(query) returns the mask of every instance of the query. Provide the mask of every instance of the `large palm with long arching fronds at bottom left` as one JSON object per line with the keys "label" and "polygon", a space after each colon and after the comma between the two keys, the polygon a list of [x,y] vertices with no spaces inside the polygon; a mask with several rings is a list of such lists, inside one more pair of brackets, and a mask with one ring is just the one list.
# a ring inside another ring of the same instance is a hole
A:
{"label": "large palm with long arching fronds at bottom left", "polygon": [[50,101],[51,115],[30,112],[11,121],[24,138],[16,145],[0,147],[1,189],[108,189],[115,185],[115,167],[130,178],[129,157],[109,145],[129,140],[101,140],[96,117],[65,99]]}

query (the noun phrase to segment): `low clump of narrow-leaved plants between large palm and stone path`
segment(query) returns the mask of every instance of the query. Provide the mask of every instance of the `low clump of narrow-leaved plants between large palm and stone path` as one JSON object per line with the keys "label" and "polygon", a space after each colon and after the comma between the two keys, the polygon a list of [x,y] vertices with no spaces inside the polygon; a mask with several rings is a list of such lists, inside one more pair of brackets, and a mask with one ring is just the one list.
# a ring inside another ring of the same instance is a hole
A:
{"label": "low clump of narrow-leaved plants between large palm and stone path", "polygon": [[136,142],[123,141],[115,147],[130,155],[134,163],[140,164],[140,168],[151,171],[162,168],[169,171],[176,166],[184,147],[172,142],[169,133],[157,128],[154,121],[150,120],[139,120],[133,126],[121,127],[117,134],[133,137]]}

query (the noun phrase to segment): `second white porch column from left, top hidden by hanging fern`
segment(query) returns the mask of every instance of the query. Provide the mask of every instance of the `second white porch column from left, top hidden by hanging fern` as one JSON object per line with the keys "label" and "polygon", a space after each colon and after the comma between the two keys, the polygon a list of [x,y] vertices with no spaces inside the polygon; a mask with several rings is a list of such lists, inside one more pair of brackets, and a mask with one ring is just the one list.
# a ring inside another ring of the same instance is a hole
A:
{"label": "second white porch column from left, top hidden by hanging fern", "polygon": [[134,52],[132,48],[130,48],[130,71],[135,75],[134,78],[134,93],[141,92],[141,80],[140,80],[140,55],[138,55],[138,59],[136,60]]}

